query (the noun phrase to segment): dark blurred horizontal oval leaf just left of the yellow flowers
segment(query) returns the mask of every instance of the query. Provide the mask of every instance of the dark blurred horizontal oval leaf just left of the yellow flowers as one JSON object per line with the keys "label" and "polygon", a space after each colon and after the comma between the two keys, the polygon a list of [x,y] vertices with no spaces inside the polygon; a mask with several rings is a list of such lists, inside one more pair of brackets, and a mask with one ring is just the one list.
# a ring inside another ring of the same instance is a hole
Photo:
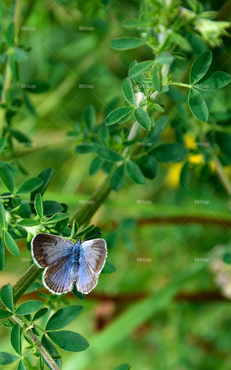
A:
{"label": "dark blurred horizontal oval leaf just left of the yellow flowers", "polygon": [[160,162],[180,162],[188,154],[188,149],[178,142],[161,144],[152,151]]}

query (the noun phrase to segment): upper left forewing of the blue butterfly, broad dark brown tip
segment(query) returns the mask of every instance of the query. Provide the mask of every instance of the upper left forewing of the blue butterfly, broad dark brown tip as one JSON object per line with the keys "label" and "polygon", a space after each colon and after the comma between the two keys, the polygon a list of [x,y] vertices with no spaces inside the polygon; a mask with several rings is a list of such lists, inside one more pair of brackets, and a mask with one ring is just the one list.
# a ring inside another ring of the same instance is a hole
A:
{"label": "upper left forewing of the blue butterfly, broad dark brown tip", "polygon": [[31,253],[39,267],[53,265],[63,256],[71,255],[75,244],[61,236],[38,233],[31,241]]}

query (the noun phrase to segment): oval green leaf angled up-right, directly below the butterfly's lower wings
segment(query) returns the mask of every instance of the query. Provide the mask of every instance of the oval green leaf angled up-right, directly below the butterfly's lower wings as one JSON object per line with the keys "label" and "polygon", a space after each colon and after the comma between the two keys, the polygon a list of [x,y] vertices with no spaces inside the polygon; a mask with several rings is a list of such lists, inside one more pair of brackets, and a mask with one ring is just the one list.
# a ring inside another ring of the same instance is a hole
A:
{"label": "oval green leaf angled up-right, directly below the butterfly's lower wings", "polygon": [[83,306],[67,306],[59,309],[50,317],[45,330],[50,331],[64,328],[77,319],[83,310]]}

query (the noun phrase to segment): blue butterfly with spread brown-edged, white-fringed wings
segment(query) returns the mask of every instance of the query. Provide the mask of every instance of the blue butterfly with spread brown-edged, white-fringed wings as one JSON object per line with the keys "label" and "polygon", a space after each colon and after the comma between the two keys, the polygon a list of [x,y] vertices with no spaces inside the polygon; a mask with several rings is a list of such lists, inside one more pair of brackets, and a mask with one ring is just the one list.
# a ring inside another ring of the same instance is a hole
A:
{"label": "blue butterfly with spread brown-edged, white-fringed wings", "polygon": [[43,284],[55,294],[69,292],[76,283],[77,290],[88,294],[98,283],[105,265],[107,245],[104,239],[76,243],[51,234],[38,233],[31,241],[34,261],[45,267]]}

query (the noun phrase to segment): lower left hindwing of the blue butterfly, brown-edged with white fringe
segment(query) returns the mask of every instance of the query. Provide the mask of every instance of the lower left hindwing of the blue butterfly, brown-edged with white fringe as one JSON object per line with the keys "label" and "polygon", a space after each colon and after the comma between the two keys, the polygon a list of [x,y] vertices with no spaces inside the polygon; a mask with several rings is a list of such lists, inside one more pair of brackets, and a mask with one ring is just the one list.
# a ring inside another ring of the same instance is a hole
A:
{"label": "lower left hindwing of the blue butterfly, brown-edged with white fringe", "polygon": [[61,257],[56,263],[47,267],[43,276],[43,284],[55,294],[67,293],[72,289],[71,277],[72,257]]}

